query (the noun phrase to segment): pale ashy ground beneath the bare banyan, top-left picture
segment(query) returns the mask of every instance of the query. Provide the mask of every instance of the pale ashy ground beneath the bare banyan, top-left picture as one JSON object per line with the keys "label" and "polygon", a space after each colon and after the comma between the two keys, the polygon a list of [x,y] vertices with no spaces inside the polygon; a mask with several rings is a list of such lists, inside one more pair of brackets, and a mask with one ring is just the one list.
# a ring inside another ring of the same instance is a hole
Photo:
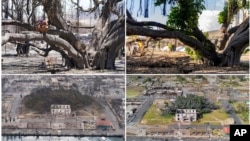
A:
{"label": "pale ashy ground beneath the bare banyan, top-left picture", "polygon": [[[15,46],[13,44],[6,44],[2,47],[2,74],[51,74],[44,66],[44,57],[38,55],[33,50],[30,51],[29,56],[16,56]],[[57,63],[62,64],[61,56],[56,52],[51,52],[51,56],[57,57]],[[125,73],[125,57],[117,59],[116,70],[93,70],[91,68],[78,70],[66,70],[60,68],[56,74],[123,74]]]}

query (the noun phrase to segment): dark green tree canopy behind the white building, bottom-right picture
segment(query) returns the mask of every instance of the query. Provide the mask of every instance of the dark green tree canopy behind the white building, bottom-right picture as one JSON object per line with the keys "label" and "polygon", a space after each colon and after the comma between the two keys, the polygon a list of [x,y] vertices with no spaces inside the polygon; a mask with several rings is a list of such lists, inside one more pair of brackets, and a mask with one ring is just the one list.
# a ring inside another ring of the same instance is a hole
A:
{"label": "dark green tree canopy behind the white building, bottom-right picture", "polygon": [[[189,94],[186,97],[178,96],[175,103],[168,107],[167,114],[175,114],[177,109],[196,109],[199,116],[217,109],[213,103],[210,103],[205,97]],[[165,114],[166,114],[165,113]]]}

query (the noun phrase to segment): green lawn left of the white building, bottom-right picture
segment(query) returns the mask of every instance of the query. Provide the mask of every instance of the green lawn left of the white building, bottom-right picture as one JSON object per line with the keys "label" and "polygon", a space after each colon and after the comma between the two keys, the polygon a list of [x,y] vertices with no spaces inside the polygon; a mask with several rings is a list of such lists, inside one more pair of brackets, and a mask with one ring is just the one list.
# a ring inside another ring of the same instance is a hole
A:
{"label": "green lawn left of the white building, bottom-right picture", "polygon": [[146,125],[164,125],[173,121],[174,115],[162,115],[161,111],[153,104],[148,109],[142,119],[142,123]]}

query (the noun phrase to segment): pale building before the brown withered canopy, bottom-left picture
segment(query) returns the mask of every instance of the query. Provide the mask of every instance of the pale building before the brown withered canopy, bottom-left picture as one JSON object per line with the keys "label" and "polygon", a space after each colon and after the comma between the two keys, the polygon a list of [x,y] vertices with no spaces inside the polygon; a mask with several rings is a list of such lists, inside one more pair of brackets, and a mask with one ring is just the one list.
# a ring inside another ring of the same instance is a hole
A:
{"label": "pale building before the brown withered canopy, bottom-left picture", "polygon": [[50,107],[51,115],[55,116],[69,116],[71,114],[70,105],[56,105],[53,104]]}

